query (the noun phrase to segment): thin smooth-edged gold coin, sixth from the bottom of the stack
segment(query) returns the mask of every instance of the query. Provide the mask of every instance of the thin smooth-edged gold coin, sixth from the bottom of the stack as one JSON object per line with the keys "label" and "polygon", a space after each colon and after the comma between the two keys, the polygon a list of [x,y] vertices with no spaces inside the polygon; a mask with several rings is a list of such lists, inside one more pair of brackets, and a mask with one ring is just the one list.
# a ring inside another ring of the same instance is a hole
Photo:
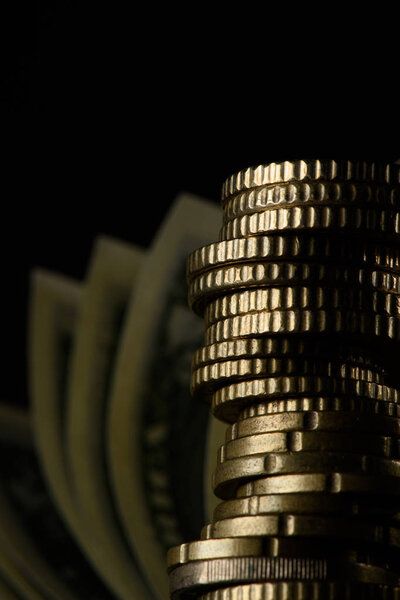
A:
{"label": "thin smooth-edged gold coin, sixth from the bottom of the stack", "polygon": [[382,496],[398,496],[400,479],[398,477],[355,475],[352,473],[305,473],[300,475],[276,475],[257,479],[241,485],[237,497],[265,496],[267,494],[291,493],[369,493]]}

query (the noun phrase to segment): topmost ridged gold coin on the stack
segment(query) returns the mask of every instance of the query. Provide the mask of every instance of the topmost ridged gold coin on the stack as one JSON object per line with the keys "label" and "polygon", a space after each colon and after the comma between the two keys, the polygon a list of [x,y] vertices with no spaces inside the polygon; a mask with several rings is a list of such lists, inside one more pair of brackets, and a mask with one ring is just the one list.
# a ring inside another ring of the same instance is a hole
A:
{"label": "topmost ridged gold coin on the stack", "polygon": [[314,159],[257,165],[228,177],[222,187],[222,202],[244,190],[292,181],[365,181],[397,185],[400,167],[365,161]]}

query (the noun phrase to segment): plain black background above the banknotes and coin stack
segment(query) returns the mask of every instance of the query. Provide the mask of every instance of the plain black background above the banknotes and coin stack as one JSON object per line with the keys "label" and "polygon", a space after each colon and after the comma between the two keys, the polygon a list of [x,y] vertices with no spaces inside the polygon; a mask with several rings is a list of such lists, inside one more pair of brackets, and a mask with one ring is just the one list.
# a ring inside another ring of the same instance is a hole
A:
{"label": "plain black background above the banknotes and coin stack", "polygon": [[[300,31],[285,28],[282,39],[261,16],[232,24],[195,4],[190,14],[81,4],[19,5],[2,70],[2,394],[11,402],[27,401],[32,268],[82,278],[96,235],[147,246],[179,192],[218,201],[224,179],[250,165],[400,157],[396,79],[383,84],[365,48],[346,57],[341,44],[342,56],[316,29],[306,47]],[[296,30],[296,17],[285,18]]]}

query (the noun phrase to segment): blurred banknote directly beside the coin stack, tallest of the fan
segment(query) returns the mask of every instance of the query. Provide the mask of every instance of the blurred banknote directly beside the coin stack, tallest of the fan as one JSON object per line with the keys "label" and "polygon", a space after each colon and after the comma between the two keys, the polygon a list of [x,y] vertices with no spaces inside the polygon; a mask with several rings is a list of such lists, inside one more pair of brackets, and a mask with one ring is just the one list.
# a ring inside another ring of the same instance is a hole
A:
{"label": "blurred banknote directly beside the coin stack, tallest of the fan", "polygon": [[108,461],[121,522],[154,597],[166,600],[166,552],[205,519],[209,409],[190,396],[203,324],[188,307],[186,260],[215,238],[217,205],[176,199],[138,272],[114,369]]}

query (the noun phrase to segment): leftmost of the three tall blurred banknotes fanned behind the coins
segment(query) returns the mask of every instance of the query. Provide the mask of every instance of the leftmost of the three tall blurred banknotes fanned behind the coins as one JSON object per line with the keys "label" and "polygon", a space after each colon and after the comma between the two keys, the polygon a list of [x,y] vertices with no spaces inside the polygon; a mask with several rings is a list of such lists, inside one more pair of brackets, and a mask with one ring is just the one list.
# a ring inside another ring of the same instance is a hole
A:
{"label": "leftmost of the three tall blurred banknotes fanned behind the coins", "polygon": [[[31,275],[28,360],[31,447],[15,448],[3,478],[35,542],[77,598],[111,600],[103,573],[88,563],[85,523],[79,519],[64,445],[66,390],[82,298],[78,282],[44,269]],[[21,426],[19,430],[21,431]],[[25,428],[26,429],[26,428]],[[61,596],[60,596],[61,598]]]}

